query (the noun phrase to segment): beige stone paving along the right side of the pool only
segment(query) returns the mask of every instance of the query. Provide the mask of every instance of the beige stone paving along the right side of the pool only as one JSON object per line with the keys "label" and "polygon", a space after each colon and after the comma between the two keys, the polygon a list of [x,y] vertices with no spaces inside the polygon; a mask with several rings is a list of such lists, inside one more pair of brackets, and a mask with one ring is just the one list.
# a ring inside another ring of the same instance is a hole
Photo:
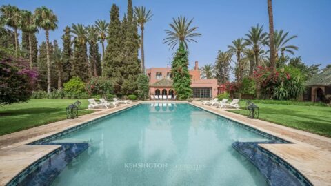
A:
{"label": "beige stone paving along the right side of the pool only", "polygon": [[331,185],[331,138],[250,119],[224,109],[202,105],[200,101],[193,101],[190,104],[290,141],[291,143],[288,144],[260,144],[260,146],[290,163],[312,184]]}

